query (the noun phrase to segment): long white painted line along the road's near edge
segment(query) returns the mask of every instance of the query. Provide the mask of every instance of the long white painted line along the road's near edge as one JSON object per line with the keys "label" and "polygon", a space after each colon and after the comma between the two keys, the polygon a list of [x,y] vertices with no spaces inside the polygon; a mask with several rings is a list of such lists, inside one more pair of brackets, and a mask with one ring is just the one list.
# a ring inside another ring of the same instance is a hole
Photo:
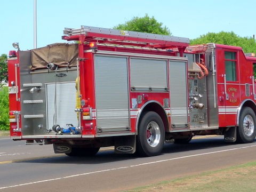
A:
{"label": "long white painted line along the road's near edge", "polygon": [[34,182],[23,183],[23,184],[14,185],[14,186],[0,187],[0,189],[7,189],[7,188],[13,188],[13,187],[21,187],[21,186],[32,185],[32,184],[35,184],[35,183],[49,182],[49,181],[57,181],[57,180],[61,180],[61,179],[74,178],[74,177],[79,177],[79,176],[83,176],[83,175],[102,173],[102,172],[107,172],[107,171],[115,171],[115,170],[121,170],[121,169],[128,169],[128,168],[135,167],[135,166],[149,165],[149,164],[154,164],[154,163],[162,163],[162,162],[173,161],[173,160],[177,160],[177,159],[196,157],[196,156],[202,156],[202,155],[209,155],[209,154],[215,154],[215,153],[222,153],[222,152],[226,152],[226,151],[239,150],[239,149],[245,149],[245,148],[251,148],[251,147],[256,147],[256,145],[245,146],[245,147],[238,147],[238,148],[226,149],[226,150],[219,150],[219,151],[213,151],[213,152],[209,152],[209,153],[188,155],[188,156],[182,156],[182,157],[176,157],[176,158],[170,158],[170,159],[163,159],[163,160],[154,161],[154,162],[140,163],[140,164],[135,164],[135,165],[130,165],[130,166],[117,167],[117,168],[113,168],[113,169],[93,171],[93,172],[87,172],[87,173],[81,173],[81,174],[75,174],[75,175],[69,175],[69,176],[66,176],[66,177],[60,177],[60,178],[54,178],[54,179],[34,181]]}

